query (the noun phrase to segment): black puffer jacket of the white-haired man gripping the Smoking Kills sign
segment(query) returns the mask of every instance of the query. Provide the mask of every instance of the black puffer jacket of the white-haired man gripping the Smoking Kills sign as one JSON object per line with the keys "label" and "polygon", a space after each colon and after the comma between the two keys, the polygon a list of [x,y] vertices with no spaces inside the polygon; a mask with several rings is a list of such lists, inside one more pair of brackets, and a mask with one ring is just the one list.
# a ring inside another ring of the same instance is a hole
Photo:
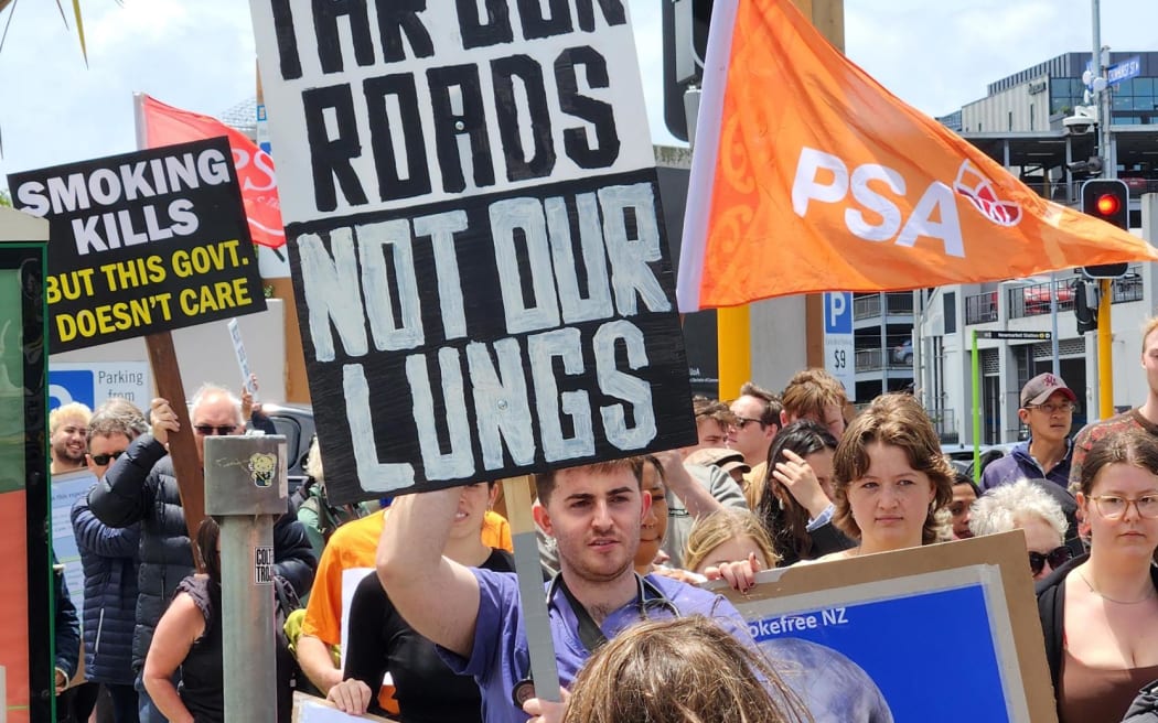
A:
{"label": "black puffer jacket of the white-haired man gripping the Smoking Kills sign", "polygon": [[[185,514],[173,472],[173,459],[162,444],[145,434],[109,467],[89,493],[89,509],[111,528],[141,524],[137,629],[133,669],[145,664],[153,630],[173,599],[177,583],[193,573],[193,552]],[[290,503],[287,502],[287,506]],[[274,574],[285,577],[300,597],[309,592],[317,559],[294,510],[273,525]]]}

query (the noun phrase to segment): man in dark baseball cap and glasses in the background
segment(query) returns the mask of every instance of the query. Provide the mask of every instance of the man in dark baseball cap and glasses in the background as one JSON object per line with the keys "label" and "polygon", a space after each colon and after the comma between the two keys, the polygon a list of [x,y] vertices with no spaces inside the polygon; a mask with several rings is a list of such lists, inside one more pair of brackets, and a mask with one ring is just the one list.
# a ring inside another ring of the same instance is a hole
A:
{"label": "man in dark baseball cap and glasses in the background", "polygon": [[990,463],[981,474],[981,488],[992,489],[1019,479],[1048,479],[1062,489],[1070,484],[1073,445],[1073,393],[1062,377],[1039,374],[1021,388],[1018,418],[1029,428],[1029,440]]}

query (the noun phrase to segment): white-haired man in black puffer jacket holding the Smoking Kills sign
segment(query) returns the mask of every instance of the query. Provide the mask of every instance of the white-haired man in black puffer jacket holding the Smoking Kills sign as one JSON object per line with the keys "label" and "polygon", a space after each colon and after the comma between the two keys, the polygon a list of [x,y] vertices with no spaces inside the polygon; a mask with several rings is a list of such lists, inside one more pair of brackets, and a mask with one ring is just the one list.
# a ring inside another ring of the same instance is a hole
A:
{"label": "white-haired man in black puffer jacket holding the Smoking Kills sign", "polygon": [[[138,575],[137,628],[133,634],[133,669],[138,671],[142,723],[163,722],[141,686],[153,630],[173,599],[177,583],[193,573],[193,554],[181,508],[173,459],[166,449],[169,433],[179,429],[177,415],[164,399],[151,405],[152,434],[138,437],[89,493],[89,509],[112,528],[141,525],[140,573]],[[197,453],[204,458],[208,435],[239,434],[241,403],[227,389],[204,385],[190,407]],[[288,507],[288,503],[287,503]],[[299,596],[314,581],[317,559],[306,531],[292,510],[273,525],[274,574],[286,578]]]}

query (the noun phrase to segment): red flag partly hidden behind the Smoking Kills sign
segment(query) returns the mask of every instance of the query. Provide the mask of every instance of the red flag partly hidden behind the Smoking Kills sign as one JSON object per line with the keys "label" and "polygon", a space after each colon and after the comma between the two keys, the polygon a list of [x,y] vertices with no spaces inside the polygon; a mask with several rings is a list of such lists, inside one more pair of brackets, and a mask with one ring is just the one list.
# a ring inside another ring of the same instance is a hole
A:
{"label": "red flag partly hidden behind the Smoking Kills sign", "polygon": [[240,131],[215,118],[166,105],[141,95],[141,116],[145,119],[145,145],[148,148],[171,146],[205,138],[229,138],[233,164],[237,168],[241,198],[249,219],[249,234],[255,244],[277,249],[286,243],[281,224],[281,204],[278,182],[273,175],[273,158],[254,145]]}

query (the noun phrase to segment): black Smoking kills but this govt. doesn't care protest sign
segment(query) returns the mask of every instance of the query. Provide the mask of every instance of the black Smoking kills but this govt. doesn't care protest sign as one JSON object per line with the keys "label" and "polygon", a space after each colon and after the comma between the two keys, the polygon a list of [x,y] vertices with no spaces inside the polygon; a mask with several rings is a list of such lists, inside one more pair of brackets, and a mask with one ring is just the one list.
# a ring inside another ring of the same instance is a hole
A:
{"label": "black Smoking kills but this govt. doesn't care protest sign", "polygon": [[8,183],[17,208],[50,223],[53,353],[265,310],[225,138]]}

